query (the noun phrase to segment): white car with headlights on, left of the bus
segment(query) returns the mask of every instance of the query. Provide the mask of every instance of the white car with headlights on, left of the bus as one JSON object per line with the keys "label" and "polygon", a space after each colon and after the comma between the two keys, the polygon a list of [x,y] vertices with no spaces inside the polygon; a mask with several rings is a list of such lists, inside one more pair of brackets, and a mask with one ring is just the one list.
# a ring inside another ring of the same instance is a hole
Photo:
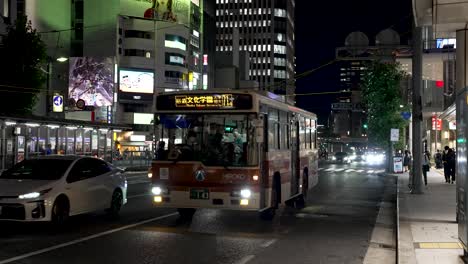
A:
{"label": "white car with headlights on, left of the bus", "polygon": [[126,202],[123,170],[96,158],[44,156],[0,175],[0,220],[63,223],[99,210],[117,215]]}

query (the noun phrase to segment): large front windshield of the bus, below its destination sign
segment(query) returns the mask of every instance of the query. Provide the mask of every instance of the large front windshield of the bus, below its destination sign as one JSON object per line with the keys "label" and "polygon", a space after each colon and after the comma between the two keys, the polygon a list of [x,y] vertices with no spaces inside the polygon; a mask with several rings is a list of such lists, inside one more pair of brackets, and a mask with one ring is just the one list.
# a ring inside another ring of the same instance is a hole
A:
{"label": "large front windshield of the bus, below its destination sign", "polygon": [[206,166],[258,164],[255,115],[159,115],[156,159]]}

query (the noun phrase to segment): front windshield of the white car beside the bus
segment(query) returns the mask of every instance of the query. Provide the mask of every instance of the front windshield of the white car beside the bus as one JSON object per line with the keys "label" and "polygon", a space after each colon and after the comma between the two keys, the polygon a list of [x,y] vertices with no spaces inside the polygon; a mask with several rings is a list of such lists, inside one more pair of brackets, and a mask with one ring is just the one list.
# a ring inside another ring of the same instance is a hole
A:
{"label": "front windshield of the white car beside the bus", "polygon": [[70,167],[72,160],[23,160],[0,176],[1,179],[58,180]]}

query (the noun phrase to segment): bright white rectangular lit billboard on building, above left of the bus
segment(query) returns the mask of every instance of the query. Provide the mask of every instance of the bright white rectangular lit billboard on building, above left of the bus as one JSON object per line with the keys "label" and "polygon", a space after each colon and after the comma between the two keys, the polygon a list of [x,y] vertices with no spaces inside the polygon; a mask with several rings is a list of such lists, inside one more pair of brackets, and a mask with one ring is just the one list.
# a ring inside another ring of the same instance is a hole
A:
{"label": "bright white rectangular lit billboard on building, above left of the bus", "polygon": [[154,73],[133,69],[120,69],[119,85],[121,92],[152,94],[154,91]]}

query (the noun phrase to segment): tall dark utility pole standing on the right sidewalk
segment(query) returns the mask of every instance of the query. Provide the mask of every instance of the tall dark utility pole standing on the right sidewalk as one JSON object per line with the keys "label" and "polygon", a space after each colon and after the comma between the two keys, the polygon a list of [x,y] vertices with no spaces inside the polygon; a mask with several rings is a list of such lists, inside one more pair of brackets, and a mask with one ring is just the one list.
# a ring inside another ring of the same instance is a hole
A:
{"label": "tall dark utility pole standing on the right sidewalk", "polygon": [[413,167],[411,193],[422,194],[422,28],[414,27],[413,43]]}

